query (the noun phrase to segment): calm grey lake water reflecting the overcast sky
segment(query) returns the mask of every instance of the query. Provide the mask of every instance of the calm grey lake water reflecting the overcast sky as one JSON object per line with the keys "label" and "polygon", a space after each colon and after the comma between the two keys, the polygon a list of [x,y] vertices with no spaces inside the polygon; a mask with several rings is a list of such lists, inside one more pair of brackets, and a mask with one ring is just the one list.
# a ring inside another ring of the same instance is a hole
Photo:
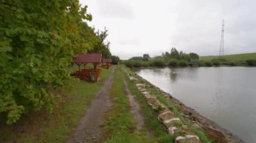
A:
{"label": "calm grey lake water reflecting the overcast sky", "polygon": [[137,74],[244,142],[256,142],[256,68],[141,69]]}

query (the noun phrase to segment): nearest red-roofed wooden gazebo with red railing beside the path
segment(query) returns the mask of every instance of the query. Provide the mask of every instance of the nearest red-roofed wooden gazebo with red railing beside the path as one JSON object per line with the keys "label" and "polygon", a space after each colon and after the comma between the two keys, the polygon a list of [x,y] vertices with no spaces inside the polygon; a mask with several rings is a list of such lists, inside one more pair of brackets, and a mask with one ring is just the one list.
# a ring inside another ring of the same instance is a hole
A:
{"label": "nearest red-roofed wooden gazebo with red railing beside the path", "polygon": [[[100,53],[90,53],[90,54],[77,54],[73,59],[73,63],[77,64],[78,70],[75,72],[75,77],[80,80],[85,80],[89,82],[97,82],[100,76],[100,69],[97,68],[98,64],[102,63],[102,54]],[[86,69],[86,64],[92,63],[94,68]],[[84,65],[84,69],[81,69]]]}

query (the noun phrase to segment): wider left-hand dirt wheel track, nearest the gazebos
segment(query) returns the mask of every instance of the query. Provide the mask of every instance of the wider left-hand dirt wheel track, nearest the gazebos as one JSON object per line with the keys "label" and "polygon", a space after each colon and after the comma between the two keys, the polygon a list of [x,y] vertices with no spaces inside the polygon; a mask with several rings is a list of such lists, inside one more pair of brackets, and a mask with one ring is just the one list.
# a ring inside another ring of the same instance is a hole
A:
{"label": "wider left-hand dirt wheel track, nearest the gazebos", "polygon": [[108,90],[113,83],[115,66],[113,67],[110,76],[104,82],[102,89],[92,99],[84,117],[81,118],[79,125],[75,128],[73,135],[67,142],[103,142],[100,125],[103,122],[102,117],[104,113],[111,107],[110,99],[108,99]]}

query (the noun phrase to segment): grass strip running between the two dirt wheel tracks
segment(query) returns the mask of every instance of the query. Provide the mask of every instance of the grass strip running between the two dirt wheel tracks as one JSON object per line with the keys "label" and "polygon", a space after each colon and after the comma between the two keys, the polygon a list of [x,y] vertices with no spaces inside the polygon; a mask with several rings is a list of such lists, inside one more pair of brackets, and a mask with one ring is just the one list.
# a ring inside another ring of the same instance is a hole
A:
{"label": "grass strip running between the two dirt wheel tracks", "polygon": [[124,91],[120,67],[115,70],[110,99],[113,101],[113,107],[106,114],[106,121],[102,125],[106,142],[156,142],[154,138],[146,136],[145,132],[135,131],[136,122],[129,111],[131,107]]}

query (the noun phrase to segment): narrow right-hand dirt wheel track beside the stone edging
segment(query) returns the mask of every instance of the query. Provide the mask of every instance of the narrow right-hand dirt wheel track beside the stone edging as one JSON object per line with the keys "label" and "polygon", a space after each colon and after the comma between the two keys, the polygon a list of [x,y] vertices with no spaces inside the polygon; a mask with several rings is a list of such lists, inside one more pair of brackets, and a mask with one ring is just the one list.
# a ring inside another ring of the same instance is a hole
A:
{"label": "narrow right-hand dirt wheel track beside the stone edging", "polygon": [[136,128],[137,128],[137,130],[141,130],[141,128],[144,125],[144,121],[143,121],[142,115],[139,113],[140,105],[134,99],[133,95],[131,95],[131,92],[130,92],[130,90],[128,88],[128,85],[127,85],[127,81],[125,80],[124,77],[123,77],[123,82],[125,84],[125,93],[127,93],[128,97],[129,97],[129,102],[130,102],[130,105],[131,105],[131,113],[133,114],[133,117],[137,122]]}

